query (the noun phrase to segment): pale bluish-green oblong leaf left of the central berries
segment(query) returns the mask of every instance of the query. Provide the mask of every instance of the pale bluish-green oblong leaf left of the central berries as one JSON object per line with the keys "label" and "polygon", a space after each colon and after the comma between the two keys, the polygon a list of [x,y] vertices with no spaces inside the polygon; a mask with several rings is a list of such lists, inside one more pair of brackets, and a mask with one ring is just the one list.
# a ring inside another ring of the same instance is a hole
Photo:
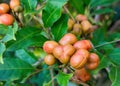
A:
{"label": "pale bluish-green oblong leaf left of the central berries", "polygon": [[37,61],[37,59],[34,55],[25,51],[24,49],[17,50],[15,52],[15,55],[16,55],[16,57],[20,58],[21,60],[23,60],[31,65]]}

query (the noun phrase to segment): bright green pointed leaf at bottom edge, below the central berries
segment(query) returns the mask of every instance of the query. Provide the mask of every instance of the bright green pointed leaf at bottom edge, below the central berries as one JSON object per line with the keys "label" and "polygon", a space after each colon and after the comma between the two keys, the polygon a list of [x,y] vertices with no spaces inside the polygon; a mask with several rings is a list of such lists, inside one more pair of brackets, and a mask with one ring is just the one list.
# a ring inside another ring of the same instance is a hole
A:
{"label": "bright green pointed leaf at bottom edge, below the central berries", "polygon": [[57,81],[60,86],[67,86],[68,81],[72,76],[73,74],[65,74],[63,72],[59,72],[59,74],[57,75]]}

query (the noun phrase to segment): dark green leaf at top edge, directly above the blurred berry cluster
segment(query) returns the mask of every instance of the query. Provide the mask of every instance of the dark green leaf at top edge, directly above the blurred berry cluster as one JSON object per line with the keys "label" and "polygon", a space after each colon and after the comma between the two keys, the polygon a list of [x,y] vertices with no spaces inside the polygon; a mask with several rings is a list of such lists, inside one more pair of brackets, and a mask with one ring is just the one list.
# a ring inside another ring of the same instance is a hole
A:
{"label": "dark green leaf at top edge, directly above the blurred berry cluster", "polygon": [[78,13],[84,14],[84,1],[86,0],[69,0],[69,3],[77,10]]}

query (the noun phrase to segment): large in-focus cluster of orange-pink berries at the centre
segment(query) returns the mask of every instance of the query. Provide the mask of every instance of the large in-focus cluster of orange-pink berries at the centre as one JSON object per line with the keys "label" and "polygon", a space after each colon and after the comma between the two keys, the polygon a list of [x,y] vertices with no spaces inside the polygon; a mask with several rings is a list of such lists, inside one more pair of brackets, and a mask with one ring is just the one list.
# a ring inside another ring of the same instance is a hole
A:
{"label": "large in-focus cluster of orange-pink berries at the centre", "polygon": [[77,40],[72,33],[65,34],[57,43],[56,41],[46,41],[43,50],[47,53],[44,61],[48,65],[53,65],[57,60],[63,64],[70,63],[74,69],[93,70],[99,64],[99,57],[95,53],[90,53],[92,44],[89,40]]}

